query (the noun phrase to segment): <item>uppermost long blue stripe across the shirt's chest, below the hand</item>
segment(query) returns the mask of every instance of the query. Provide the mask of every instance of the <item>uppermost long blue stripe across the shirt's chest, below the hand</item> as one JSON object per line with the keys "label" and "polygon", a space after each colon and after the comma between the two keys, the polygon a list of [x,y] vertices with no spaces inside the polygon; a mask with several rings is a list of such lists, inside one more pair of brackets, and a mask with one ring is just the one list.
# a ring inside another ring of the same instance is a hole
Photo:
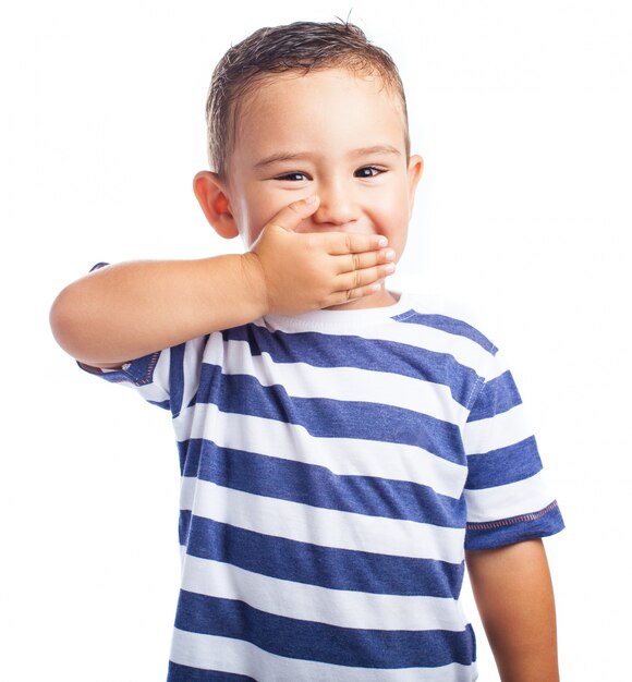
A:
{"label": "uppermost long blue stripe across the shirt's chest, below the hand", "polygon": [[313,367],[355,367],[440,383],[447,386],[452,398],[463,406],[467,406],[467,398],[478,378],[473,369],[459,364],[449,353],[396,341],[317,332],[271,332],[256,325],[227,329],[222,337],[224,341],[245,341],[253,356],[268,353],[278,364],[301,362]]}

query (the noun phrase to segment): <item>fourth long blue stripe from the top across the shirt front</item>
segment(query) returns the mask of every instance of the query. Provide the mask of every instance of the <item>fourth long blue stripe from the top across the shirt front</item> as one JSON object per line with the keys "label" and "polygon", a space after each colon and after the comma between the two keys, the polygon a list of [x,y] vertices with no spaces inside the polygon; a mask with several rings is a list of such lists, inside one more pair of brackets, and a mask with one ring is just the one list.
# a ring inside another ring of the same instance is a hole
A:
{"label": "fourth long blue stripe from the top across the shirt front", "polygon": [[244,531],[190,511],[180,512],[180,544],[199,559],[329,589],[455,599],[463,582],[463,562],[319,547]]}

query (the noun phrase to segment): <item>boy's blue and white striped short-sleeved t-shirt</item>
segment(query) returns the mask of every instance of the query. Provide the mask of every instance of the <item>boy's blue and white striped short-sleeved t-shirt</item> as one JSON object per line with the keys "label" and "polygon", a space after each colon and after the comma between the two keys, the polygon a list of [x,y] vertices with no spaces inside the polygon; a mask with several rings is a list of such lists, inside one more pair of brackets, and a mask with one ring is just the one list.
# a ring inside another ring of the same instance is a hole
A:
{"label": "boy's blue and white striped short-sleeved t-shirt", "polygon": [[405,296],[268,316],[102,376],[173,416],[168,682],[470,682],[464,550],[563,527],[497,349]]}

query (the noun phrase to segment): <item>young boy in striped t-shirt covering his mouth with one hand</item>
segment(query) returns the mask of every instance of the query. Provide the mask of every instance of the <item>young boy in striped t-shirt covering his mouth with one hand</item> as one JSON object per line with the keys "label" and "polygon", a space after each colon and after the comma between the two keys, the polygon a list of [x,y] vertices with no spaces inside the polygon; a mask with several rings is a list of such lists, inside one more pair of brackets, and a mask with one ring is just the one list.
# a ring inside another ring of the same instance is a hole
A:
{"label": "young boy in striped t-shirt covering his mouth with one hand", "polygon": [[195,195],[246,253],[102,267],[51,313],[173,416],[169,682],[475,680],[465,562],[502,679],[557,680],[539,538],[563,524],[511,375],[384,282],[422,174],[390,57],[350,24],[264,28],[207,115]]}

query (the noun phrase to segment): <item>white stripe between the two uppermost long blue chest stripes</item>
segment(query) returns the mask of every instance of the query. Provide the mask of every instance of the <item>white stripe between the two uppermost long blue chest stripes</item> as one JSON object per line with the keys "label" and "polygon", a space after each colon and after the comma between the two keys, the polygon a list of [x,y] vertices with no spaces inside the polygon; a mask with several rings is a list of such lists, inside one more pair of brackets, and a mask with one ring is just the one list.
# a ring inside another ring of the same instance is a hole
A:
{"label": "white stripe between the two uppermost long blue chest stripes", "polygon": [[314,367],[306,363],[275,363],[269,353],[251,355],[246,341],[228,341],[210,348],[205,362],[227,375],[248,375],[262,386],[281,385],[294,398],[325,398],[369,402],[422,412],[451,424],[462,424],[469,411],[442,383],[387,372],[356,367]]}

